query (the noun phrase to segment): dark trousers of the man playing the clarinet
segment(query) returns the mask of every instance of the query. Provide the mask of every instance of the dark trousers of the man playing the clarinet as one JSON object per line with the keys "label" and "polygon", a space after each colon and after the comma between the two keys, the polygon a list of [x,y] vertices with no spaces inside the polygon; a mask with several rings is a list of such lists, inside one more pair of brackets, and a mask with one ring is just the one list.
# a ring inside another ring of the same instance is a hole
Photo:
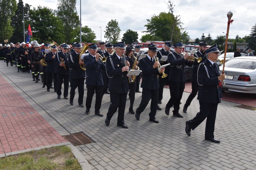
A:
{"label": "dark trousers of the man playing the clarinet", "polygon": [[110,121],[118,108],[117,125],[124,124],[124,110],[126,104],[127,93],[113,93],[110,92],[111,104],[108,108],[107,119]]}

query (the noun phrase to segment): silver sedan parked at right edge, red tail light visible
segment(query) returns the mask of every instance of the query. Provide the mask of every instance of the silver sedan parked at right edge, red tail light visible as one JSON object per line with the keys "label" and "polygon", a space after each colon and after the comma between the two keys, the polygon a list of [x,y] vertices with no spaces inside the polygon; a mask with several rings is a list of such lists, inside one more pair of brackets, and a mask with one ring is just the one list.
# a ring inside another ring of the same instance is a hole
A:
{"label": "silver sedan parked at right edge, red tail light visible", "polygon": [[[220,66],[220,72],[223,65]],[[222,91],[256,94],[256,57],[235,57],[225,63]]]}

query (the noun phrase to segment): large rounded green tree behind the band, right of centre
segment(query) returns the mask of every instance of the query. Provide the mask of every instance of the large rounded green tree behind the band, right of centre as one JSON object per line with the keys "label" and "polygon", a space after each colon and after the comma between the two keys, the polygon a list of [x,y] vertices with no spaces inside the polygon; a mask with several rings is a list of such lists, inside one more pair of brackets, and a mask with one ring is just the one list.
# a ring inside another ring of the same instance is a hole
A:
{"label": "large rounded green tree behind the band, right of centre", "polygon": [[[152,36],[160,37],[160,41],[170,40],[171,30],[174,24],[172,14],[170,12],[161,12],[159,15],[154,15],[151,19],[147,19],[148,23],[144,25],[147,31],[142,31],[151,34]],[[175,26],[172,42],[181,40],[181,31],[183,28]]]}

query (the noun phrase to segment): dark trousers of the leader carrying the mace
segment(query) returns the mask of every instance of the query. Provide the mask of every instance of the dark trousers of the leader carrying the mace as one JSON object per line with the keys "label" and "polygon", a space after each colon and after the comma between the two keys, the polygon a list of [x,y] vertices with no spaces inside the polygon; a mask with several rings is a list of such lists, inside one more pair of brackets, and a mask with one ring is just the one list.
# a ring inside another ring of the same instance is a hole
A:
{"label": "dark trousers of the leader carrying the mace", "polygon": [[199,101],[199,104],[200,104],[200,112],[197,113],[196,117],[188,121],[188,125],[191,127],[192,130],[194,130],[207,117],[206,127],[205,127],[205,138],[214,138],[213,133],[214,133],[218,103],[207,103],[207,102]]}

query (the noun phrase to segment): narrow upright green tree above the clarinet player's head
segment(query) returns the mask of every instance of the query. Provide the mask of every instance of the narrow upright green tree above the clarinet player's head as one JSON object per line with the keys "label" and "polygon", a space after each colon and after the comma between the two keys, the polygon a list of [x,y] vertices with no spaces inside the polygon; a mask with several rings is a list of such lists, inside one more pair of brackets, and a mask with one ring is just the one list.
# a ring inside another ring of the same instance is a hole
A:
{"label": "narrow upright green tree above the clarinet player's head", "polygon": [[121,29],[118,26],[117,20],[111,19],[111,21],[108,22],[108,25],[106,26],[106,31],[104,38],[107,38],[110,40],[113,44],[117,43],[117,40],[120,39],[120,32]]}

